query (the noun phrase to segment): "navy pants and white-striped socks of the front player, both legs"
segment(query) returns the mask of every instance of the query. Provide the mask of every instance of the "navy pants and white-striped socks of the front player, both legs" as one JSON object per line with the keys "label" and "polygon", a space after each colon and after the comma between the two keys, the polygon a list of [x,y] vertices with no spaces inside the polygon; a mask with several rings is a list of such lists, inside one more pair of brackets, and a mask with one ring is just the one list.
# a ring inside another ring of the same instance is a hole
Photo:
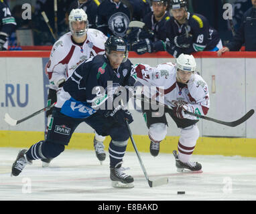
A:
{"label": "navy pants and white-striped socks of the front player, both legs", "polygon": [[102,114],[97,113],[92,114],[88,118],[71,118],[62,114],[60,108],[56,107],[54,107],[52,112],[52,122],[49,126],[46,140],[33,144],[26,153],[28,158],[36,160],[58,156],[64,151],[74,130],[81,122],[86,122],[101,136],[111,136],[111,143],[109,144],[111,167],[114,167],[123,160],[129,139],[129,131],[125,123],[119,124],[112,117],[106,118]]}

